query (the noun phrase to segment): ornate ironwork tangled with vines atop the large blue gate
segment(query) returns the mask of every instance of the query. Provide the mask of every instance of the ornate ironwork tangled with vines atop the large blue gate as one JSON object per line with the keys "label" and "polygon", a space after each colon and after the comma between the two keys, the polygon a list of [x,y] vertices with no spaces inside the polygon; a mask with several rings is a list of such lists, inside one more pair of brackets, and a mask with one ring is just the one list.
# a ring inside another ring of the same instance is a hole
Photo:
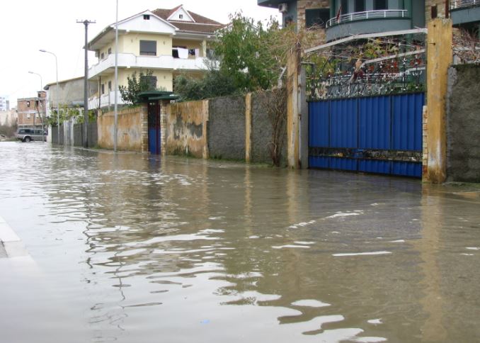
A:
{"label": "ornate ironwork tangled with vines atop the large blue gate", "polygon": [[334,45],[307,56],[309,100],[403,94],[425,90],[421,38],[376,38]]}

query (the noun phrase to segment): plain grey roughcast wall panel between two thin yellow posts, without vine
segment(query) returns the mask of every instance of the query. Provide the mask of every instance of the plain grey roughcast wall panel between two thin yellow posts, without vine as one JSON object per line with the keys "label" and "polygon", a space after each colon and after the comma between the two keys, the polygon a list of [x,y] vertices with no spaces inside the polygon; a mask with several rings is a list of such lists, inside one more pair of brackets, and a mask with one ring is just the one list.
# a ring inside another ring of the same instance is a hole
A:
{"label": "plain grey roughcast wall panel between two thin yellow posts, without vine", "polygon": [[245,159],[245,97],[210,100],[207,125],[210,157]]}

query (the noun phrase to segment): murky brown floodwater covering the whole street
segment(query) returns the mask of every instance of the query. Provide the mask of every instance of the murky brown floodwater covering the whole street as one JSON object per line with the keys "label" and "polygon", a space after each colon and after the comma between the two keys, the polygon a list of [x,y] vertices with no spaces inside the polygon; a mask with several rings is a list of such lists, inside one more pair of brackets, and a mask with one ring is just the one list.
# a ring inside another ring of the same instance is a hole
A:
{"label": "murky brown floodwater covering the whole street", "polygon": [[479,342],[473,186],[0,143],[0,342]]}

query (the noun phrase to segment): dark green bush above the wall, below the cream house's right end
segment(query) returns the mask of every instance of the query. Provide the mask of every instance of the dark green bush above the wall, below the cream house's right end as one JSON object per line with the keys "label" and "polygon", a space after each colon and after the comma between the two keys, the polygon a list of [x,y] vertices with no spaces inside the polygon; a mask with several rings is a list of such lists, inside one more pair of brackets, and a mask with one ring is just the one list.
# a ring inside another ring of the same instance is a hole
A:
{"label": "dark green bush above the wall, below the cream house's right end", "polygon": [[173,89],[180,96],[180,101],[209,99],[237,92],[233,78],[218,70],[210,70],[201,79],[180,75],[174,80]]}

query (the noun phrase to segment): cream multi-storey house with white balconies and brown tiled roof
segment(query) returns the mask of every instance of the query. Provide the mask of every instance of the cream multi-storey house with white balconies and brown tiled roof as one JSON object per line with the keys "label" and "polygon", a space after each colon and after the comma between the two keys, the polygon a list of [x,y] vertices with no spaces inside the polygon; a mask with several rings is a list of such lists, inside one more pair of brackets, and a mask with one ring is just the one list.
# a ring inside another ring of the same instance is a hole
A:
{"label": "cream multi-storey house with white balconies and brown tiled roof", "polygon": [[[173,90],[173,79],[182,73],[200,77],[207,70],[209,43],[222,24],[183,6],[144,11],[118,23],[118,84],[127,86],[134,72],[152,70],[149,79],[156,89]],[[107,26],[88,43],[98,63],[88,71],[97,91],[89,108],[115,102],[115,24]],[[120,95],[118,103],[122,104]]]}

